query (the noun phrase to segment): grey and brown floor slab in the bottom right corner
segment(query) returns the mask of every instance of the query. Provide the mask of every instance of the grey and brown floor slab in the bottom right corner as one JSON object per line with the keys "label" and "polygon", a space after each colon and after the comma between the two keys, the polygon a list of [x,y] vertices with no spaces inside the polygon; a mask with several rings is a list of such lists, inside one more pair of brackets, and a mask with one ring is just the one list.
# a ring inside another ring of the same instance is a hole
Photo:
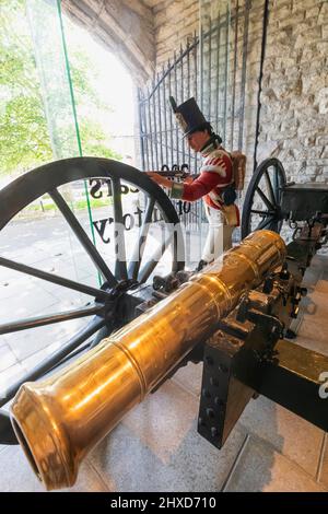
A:
{"label": "grey and brown floor slab in the bottom right corner", "polygon": [[230,492],[327,492],[297,464],[268,443],[250,436],[231,475]]}

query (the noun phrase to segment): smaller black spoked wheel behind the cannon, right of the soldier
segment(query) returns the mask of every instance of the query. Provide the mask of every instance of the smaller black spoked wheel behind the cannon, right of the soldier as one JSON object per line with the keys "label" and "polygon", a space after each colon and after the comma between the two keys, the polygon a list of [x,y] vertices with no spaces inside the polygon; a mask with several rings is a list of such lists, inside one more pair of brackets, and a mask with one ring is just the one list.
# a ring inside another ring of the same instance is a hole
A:
{"label": "smaller black spoked wheel behind the cannon, right of the soldier", "polygon": [[281,188],[285,173],[278,159],[267,159],[255,171],[243,207],[242,238],[267,229],[280,233],[283,223]]}

